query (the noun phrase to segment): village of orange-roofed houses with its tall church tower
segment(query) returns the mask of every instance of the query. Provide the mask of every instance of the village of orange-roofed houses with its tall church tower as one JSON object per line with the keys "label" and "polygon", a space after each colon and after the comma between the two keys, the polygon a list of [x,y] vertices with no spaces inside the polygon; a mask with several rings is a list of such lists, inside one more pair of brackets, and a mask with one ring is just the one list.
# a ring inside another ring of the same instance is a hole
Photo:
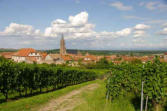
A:
{"label": "village of orange-roofed houses with its tall church tower", "polygon": [[76,54],[67,53],[65,47],[64,36],[62,35],[60,41],[60,52],[55,54],[47,54],[46,52],[40,52],[33,48],[22,48],[17,52],[2,52],[0,56],[6,59],[11,59],[15,62],[26,62],[26,63],[37,63],[37,64],[65,64],[68,63],[71,66],[77,66],[79,62],[83,64],[96,63],[102,58],[108,61],[112,61],[114,64],[119,64],[121,62],[131,62],[134,60],[140,60],[142,63],[147,61],[152,61],[155,56],[159,56],[162,62],[167,62],[167,53],[159,55],[149,55],[149,56],[129,56],[129,55],[92,55],[88,52],[82,54],[78,51]]}

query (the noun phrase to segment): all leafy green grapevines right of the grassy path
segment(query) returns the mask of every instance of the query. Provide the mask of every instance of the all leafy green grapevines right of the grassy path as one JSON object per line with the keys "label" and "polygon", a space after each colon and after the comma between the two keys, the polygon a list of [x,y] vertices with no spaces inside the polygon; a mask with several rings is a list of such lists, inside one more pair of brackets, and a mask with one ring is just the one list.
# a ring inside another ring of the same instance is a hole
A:
{"label": "all leafy green grapevines right of the grassy path", "polygon": [[145,109],[162,111],[167,102],[167,64],[156,58],[146,64],[122,63],[114,65],[107,80],[106,96],[113,101],[133,93],[139,100],[141,84],[144,83]]}

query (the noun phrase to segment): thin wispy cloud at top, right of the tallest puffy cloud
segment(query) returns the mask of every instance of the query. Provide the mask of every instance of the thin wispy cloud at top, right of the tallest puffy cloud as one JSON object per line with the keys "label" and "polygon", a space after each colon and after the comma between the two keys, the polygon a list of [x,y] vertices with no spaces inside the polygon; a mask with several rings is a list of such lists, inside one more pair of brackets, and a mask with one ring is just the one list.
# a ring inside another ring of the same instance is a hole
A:
{"label": "thin wispy cloud at top, right of the tallest puffy cloud", "polygon": [[122,10],[122,11],[127,11],[127,10],[132,10],[133,7],[132,6],[125,6],[122,2],[118,1],[118,2],[112,2],[110,4],[110,6],[117,8],[118,10]]}

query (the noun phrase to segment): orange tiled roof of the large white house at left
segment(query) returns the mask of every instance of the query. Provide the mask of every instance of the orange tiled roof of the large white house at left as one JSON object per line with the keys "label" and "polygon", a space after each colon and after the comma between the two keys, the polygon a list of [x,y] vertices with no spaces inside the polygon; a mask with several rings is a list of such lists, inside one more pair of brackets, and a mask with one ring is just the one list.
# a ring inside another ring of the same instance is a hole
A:
{"label": "orange tiled roof of the large white house at left", "polygon": [[23,49],[20,49],[18,52],[16,52],[14,55],[15,55],[15,56],[26,57],[26,56],[28,56],[30,53],[34,53],[34,52],[36,52],[35,49],[32,49],[32,48],[23,48]]}

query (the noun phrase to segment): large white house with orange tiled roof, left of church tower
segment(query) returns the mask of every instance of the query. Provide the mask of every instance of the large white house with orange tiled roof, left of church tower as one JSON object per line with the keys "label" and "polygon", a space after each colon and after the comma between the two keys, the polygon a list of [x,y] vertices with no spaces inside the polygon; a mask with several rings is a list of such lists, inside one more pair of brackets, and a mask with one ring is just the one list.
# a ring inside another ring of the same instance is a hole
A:
{"label": "large white house with orange tiled roof, left of church tower", "polygon": [[16,62],[27,62],[27,63],[41,63],[46,54],[37,52],[33,48],[23,48],[12,55],[12,59]]}

